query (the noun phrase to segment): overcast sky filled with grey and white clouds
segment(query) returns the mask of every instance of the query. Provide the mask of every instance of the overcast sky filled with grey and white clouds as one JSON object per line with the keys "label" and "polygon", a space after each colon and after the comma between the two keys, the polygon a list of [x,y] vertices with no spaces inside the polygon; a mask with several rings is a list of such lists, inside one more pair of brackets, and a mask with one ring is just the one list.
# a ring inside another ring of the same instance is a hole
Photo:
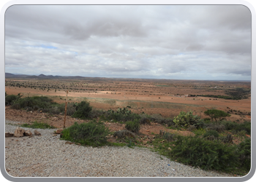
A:
{"label": "overcast sky filled with grey and white clouds", "polygon": [[243,5],[13,5],[5,72],[153,79],[251,79]]}

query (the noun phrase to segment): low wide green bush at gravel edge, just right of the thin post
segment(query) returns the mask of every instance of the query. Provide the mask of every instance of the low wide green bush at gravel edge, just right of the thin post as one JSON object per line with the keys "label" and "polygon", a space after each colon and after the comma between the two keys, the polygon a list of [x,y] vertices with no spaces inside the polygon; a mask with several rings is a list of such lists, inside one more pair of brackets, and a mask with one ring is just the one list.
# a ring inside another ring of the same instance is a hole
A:
{"label": "low wide green bush at gravel edge, just right of the thin post", "polygon": [[82,145],[103,146],[108,143],[106,138],[108,133],[108,128],[102,122],[91,121],[81,124],[75,122],[71,127],[62,131],[61,138]]}

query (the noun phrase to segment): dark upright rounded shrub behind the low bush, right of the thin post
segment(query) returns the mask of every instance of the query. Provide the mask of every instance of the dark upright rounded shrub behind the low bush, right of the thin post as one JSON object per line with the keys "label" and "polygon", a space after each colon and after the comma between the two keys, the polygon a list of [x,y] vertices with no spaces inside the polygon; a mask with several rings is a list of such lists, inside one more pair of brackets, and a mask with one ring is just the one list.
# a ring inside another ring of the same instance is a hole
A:
{"label": "dark upright rounded shrub behind the low bush, right of the thin post", "polygon": [[72,117],[80,118],[80,119],[87,119],[89,118],[89,114],[92,107],[90,106],[89,102],[82,101],[78,103],[78,106],[75,108],[75,113],[72,114]]}

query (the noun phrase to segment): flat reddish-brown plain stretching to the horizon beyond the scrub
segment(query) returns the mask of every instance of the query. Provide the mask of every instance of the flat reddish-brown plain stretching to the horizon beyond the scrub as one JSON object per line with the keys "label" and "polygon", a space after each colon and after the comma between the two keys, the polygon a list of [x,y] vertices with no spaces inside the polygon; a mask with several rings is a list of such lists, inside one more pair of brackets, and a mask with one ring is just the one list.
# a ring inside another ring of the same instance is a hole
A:
{"label": "flat reddish-brown plain stretching to the horizon beyond the scrub", "polygon": [[80,102],[86,98],[93,108],[122,107],[135,113],[161,114],[173,118],[181,111],[206,118],[203,112],[216,108],[229,112],[230,121],[250,121],[251,98],[230,100],[199,95],[227,95],[228,90],[249,90],[251,82],[218,82],[167,79],[5,79],[8,95],[47,96],[57,103]]}

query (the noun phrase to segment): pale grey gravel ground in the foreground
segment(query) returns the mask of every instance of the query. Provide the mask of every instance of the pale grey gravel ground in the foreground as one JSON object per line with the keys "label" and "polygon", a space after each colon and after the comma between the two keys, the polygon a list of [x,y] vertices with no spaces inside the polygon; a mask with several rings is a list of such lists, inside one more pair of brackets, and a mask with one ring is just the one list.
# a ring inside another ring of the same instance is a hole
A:
{"label": "pale grey gravel ground in the foreground", "polygon": [[[7,124],[10,123],[10,124]],[[6,121],[5,131],[15,132],[18,122]],[[34,129],[23,127],[25,130]],[[234,177],[182,165],[135,147],[85,147],[67,144],[42,130],[41,136],[6,138],[5,167],[14,177]]]}

